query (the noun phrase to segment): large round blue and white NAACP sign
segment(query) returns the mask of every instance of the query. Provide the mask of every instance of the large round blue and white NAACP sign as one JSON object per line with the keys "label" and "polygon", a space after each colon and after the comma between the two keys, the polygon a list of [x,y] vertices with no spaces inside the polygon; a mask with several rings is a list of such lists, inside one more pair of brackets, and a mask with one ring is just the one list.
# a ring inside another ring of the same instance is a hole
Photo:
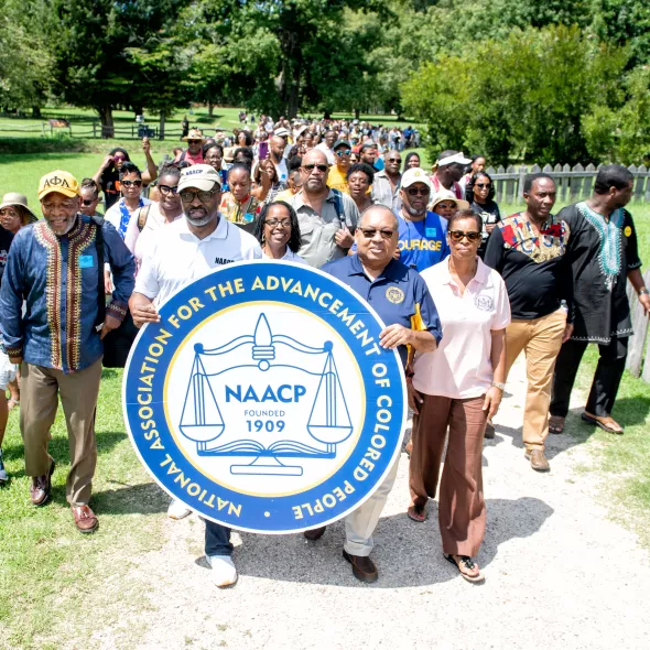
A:
{"label": "large round blue and white NAACP sign", "polygon": [[400,452],[405,386],[347,286],[283,262],[224,267],[174,294],[124,371],[124,419],[170,495],[262,533],[340,519]]}

